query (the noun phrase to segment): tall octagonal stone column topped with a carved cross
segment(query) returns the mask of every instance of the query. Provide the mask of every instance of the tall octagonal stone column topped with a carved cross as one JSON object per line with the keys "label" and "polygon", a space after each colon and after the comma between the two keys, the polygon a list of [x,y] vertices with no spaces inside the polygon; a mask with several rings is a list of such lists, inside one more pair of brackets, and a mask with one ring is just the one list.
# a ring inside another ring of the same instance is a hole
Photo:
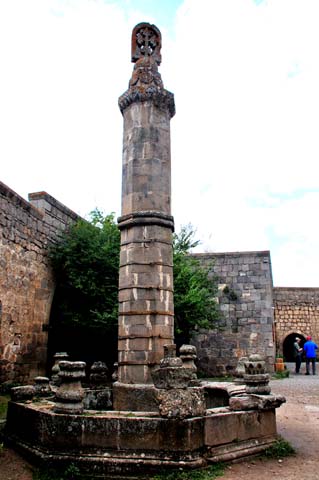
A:
{"label": "tall octagonal stone column topped with a carved cross", "polygon": [[174,337],[170,119],[175,106],[158,73],[160,48],[154,25],[134,28],[135,67],[119,99],[124,135],[114,407],[121,410],[151,408],[151,370]]}

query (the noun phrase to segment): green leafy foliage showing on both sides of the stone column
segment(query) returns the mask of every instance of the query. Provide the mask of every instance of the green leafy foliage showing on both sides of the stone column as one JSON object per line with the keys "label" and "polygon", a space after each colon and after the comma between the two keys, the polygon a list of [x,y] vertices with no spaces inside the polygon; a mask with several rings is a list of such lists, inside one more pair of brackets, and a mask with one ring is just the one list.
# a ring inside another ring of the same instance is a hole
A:
{"label": "green leafy foliage showing on both sides of the stone column", "polygon": [[[217,284],[209,268],[190,256],[198,245],[188,225],[174,235],[175,333],[189,341],[192,330],[218,318]],[[120,232],[114,215],[99,210],[62,234],[50,252],[57,280],[54,321],[60,325],[112,328],[117,325]]]}

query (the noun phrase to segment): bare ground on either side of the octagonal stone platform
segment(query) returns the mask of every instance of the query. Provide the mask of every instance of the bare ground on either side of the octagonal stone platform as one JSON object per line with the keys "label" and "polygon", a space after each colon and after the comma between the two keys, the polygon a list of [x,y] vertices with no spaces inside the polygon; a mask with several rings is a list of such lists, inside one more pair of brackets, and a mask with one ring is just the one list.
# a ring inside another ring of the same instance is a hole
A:
{"label": "bare ground on either side of the octagonal stone platform", "polygon": [[[280,460],[252,459],[227,467],[222,480],[319,479],[319,376],[292,375],[271,382],[273,393],[287,398],[277,410],[278,432],[297,450]],[[0,480],[32,480],[32,472],[9,449],[0,454]]]}

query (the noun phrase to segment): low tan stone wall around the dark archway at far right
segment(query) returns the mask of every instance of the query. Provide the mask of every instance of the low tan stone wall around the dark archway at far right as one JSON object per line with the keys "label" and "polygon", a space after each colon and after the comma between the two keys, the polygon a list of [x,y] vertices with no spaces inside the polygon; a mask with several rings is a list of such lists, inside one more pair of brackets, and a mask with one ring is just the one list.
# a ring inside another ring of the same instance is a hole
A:
{"label": "low tan stone wall around the dark archway at far right", "polygon": [[277,352],[285,338],[298,333],[319,342],[319,288],[275,287],[273,290]]}

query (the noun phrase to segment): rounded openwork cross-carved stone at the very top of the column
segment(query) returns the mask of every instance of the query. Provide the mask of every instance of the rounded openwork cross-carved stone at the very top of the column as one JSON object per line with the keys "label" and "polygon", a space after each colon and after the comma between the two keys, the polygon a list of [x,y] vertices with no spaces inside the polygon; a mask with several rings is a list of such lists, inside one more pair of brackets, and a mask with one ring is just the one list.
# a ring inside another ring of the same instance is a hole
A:
{"label": "rounded openwork cross-carved stone at the very top of the column", "polygon": [[132,62],[143,57],[153,57],[157,65],[161,64],[161,32],[155,25],[139,23],[132,32]]}

